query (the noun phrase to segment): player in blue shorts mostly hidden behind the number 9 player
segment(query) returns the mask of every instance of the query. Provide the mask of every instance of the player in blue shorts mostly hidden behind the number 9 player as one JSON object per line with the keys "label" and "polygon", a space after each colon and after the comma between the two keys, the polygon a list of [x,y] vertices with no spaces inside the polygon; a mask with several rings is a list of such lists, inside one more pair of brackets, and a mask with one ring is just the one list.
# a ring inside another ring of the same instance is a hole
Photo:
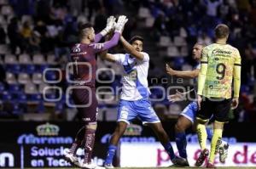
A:
{"label": "player in blue shorts mostly hidden behind the number 9 player", "polygon": [[[201,59],[201,51],[202,48],[204,48],[204,44],[202,43],[195,43],[192,51],[192,57],[195,59],[198,63]],[[167,74],[170,76],[178,76],[183,78],[192,78],[195,79],[199,75],[200,71],[200,65],[197,65],[195,67],[195,70],[189,70],[189,71],[178,71],[178,70],[172,70],[172,68],[169,65],[166,65],[166,71]],[[195,87],[196,88],[196,87]],[[190,93],[194,91],[191,90],[187,93]],[[170,95],[169,100],[172,102],[183,100],[187,93],[180,93],[177,91],[177,93]],[[181,157],[184,159],[187,159],[187,139],[186,139],[186,129],[189,127],[192,127],[195,122],[195,116],[198,110],[198,105],[195,101],[192,101],[179,115],[177,119],[177,123],[175,125],[175,141],[177,144],[178,153]],[[207,128],[207,138],[209,140],[212,140],[212,129]],[[228,154],[228,147],[229,144],[222,141],[221,145],[219,146],[219,158],[221,161],[224,161]],[[189,163],[187,164],[189,166]]]}

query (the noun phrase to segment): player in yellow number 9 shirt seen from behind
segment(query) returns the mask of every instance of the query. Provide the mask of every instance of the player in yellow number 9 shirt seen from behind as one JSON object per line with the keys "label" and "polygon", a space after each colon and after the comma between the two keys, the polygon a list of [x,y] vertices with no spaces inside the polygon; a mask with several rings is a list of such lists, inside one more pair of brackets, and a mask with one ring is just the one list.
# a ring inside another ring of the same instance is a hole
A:
{"label": "player in yellow number 9 shirt seen from behind", "polygon": [[[228,114],[236,109],[241,83],[241,56],[237,48],[227,44],[229,27],[217,25],[215,28],[216,43],[205,47],[201,55],[201,70],[198,79],[197,132],[201,145],[201,155],[195,166],[201,166],[209,155],[206,149],[207,132],[205,124],[213,115],[214,131],[211,143],[211,153],[207,167],[212,167],[215,154],[222,138],[224,123],[229,121]],[[234,97],[231,99],[232,82],[234,82]]]}

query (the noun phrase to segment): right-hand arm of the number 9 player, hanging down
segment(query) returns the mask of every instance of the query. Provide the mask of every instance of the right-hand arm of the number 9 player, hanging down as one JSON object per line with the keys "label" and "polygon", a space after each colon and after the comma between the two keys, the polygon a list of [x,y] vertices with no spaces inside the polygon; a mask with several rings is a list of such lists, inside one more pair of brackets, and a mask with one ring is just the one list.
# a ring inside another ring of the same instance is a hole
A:
{"label": "right-hand arm of the number 9 player, hanging down", "polygon": [[237,51],[235,58],[235,65],[233,70],[234,77],[234,99],[232,100],[232,109],[236,109],[239,103],[239,93],[241,86],[241,56],[239,51]]}

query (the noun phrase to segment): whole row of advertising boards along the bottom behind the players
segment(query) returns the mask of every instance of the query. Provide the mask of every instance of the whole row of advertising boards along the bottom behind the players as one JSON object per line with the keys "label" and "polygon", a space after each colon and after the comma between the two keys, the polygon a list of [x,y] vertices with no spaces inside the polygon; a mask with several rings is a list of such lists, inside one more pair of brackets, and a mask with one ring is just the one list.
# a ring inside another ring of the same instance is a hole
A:
{"label": "whole row of advertising boards along the bottom behind the players", "polygon": [[[163,123],[168,130],[171,140],[173,138],[174,123]],[[99,122],[96,131],[96,146],[93,155],[98,165],[103,164],[107,153],[108,142],[116,126],[115,122]],[[229,160],[225,165],[252,166],[256,161],[256,136],[246,137],[239,132],[233,132],[235,127],[251,128],[249,124],[239,124],[224,130],[224,140],[231,144]],[[76,131],[79,130],[77,121],[73,122],[19,122],[2,121],[0,132],[4,137],[0,142],[0,167],[65,167],[70,166],[64,161],[63,155],[73,143]],[[11,131],[11,132],[10,132]],[[254,135],[253,135],[254,134]],[[189,162],[194,164],[195,155],[199,154],[199,145],[195,133],[188,133]],[[255,140],[255,141],[253,141]],[[162,146],[157,142],[154,132],[149,127],[140,124],[131,124],[121,138],[121,147],[114,160],[119,166],[168,166],[171,162]],[[251,142],[251,144],[241,144]],[[239,143],[239,144],[237,144]],[[131,145],[131,147],[127,146]],[[174,145],[174,144],[173,144]],[[176,148],[176,146],[173,146]],[[192,152],[192,154],[190,153]],[[84,155],[82,149],[78,150],[79,159]],[[139,156],[139,158],[137,157]],[[128,158],[129,156],[129,158]],[[125,159],[125,160],[124,160]],[[142,159],[140,163],[134,162]],[[148,161],[150,159],[150,161]],[[144,164],[147,163],[147,164]],[[217,164],[218,165],[218,164]]]}

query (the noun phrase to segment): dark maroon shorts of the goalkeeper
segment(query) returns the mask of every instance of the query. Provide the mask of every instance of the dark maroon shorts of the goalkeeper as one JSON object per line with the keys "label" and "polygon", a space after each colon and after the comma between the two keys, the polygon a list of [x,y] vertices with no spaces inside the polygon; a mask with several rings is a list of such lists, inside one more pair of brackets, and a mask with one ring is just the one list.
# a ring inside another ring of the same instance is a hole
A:
{"label": "dark maroon shorts of the goalkeeper", "polygon": [[95,123],[98,109],[95,87],[74,88],[72,91],[79,118],[87,124]]}

